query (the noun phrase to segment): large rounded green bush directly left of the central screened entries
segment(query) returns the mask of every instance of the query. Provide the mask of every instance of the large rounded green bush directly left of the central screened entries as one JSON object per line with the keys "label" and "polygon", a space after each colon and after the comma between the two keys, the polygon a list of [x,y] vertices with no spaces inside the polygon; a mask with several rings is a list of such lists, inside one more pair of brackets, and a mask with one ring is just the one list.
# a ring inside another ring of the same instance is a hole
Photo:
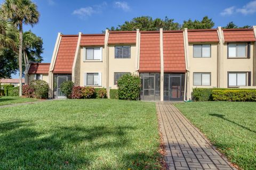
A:
{"label": "large rounded green bush directly left of the central screened entries", "polygon": [[140,77],[124,74],[117,81],[118,96],[123,100],[137,100],[140,96]]}

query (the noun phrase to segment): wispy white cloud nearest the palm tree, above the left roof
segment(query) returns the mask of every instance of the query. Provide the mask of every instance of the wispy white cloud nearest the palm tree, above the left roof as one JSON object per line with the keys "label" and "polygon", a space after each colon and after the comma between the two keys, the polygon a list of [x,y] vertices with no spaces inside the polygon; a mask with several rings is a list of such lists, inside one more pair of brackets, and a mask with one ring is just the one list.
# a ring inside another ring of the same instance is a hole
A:
{"label": "wispy white cloud nearest the palm tree, above the left roof", "polygon": [[77,15],[79,18],[86,18],[88,16],[91,16],[92,14],[100,13],[103,8],[107,6],[106,2],[103,2],[99,5],[93,5],[93,6],[87,6],[87,7],[81,7],[75,11],[73,11],[74,15]]}

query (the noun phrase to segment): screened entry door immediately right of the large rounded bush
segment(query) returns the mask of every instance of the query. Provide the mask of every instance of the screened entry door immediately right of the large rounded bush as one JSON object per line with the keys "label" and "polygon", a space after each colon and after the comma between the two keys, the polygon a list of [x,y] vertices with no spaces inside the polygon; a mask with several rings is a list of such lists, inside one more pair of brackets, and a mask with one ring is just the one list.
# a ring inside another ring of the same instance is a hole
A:
{"label": "screened entry door immediately right of the large rounded bush", "polygon": [[144,76],[142,80],[143,100],[155,100],[155,76]]}

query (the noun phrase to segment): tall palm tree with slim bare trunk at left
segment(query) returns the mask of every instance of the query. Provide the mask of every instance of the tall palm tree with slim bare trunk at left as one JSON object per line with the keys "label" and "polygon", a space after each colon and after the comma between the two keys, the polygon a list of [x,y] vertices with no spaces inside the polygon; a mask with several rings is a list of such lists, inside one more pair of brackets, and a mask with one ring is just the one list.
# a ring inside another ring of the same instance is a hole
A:
{"label": "tall palm tree with slim bare trunk at left", "polygon": [[23,24],[35,25],[39,20],[37,5],[30,0],[5,0],[0,9],[3,19],[12,22],[19,28],[19,72],[20,91],[22,95],[22,44]]}

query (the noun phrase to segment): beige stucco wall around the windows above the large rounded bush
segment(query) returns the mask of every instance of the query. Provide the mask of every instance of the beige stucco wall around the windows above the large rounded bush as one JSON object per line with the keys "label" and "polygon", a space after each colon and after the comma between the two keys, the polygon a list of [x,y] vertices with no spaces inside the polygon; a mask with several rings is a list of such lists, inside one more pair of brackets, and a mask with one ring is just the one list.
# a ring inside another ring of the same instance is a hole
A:
{"label": "beige stucco wall around the windows above the large rounded bush", "polygon": [[136,66],[136,46],[134,45],[122,45],[131,46],[131,58],[115,58],[115,45],[109,46],[108,57],[109,57],[109,88],[117,89],[114,85],[114,73],[115,72],[129,72],[135,73]]}

